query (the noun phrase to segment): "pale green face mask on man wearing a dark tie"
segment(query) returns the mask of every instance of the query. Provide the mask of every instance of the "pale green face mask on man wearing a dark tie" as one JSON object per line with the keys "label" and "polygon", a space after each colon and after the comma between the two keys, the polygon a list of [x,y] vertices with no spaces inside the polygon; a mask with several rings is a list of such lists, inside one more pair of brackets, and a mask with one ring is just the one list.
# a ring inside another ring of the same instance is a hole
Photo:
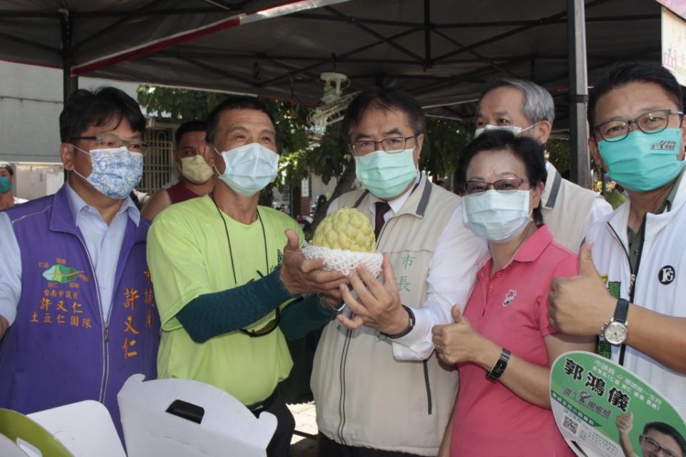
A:
{"label": "pale green face mask on man wearing a dark tie", "polygon": [[417,178],[412,149],[389,153],[374,151],[355,156],[355,174],[364,187],[379,199],[398,196]]}

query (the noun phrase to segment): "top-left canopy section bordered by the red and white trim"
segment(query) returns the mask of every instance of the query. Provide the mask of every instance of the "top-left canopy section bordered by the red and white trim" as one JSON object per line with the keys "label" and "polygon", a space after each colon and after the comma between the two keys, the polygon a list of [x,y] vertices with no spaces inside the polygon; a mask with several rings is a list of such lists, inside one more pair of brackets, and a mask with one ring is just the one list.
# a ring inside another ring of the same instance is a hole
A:
{"label": "top-left canopy section bordered by the red and white trim", "polygon": [[[0,0],[0,59],[63,69],[68,96],[79,75],[96,77],[94,69],[320,4],[318,0]],[[151,76],[161,70],[165,69],[149,69]],[[123,74],[114,79],[131,80]],[[154,82],[154,78],[139,81]],[[175,84],[190,85],[184,78]]]}

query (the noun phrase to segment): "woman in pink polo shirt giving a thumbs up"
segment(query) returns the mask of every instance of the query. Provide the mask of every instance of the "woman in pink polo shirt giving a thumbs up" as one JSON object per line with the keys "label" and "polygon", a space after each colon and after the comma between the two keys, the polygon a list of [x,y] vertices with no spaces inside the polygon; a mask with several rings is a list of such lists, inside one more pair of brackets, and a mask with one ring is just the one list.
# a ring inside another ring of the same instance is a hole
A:
{"label": "woman in pink polo shirt giving a thumbs up", "polygon": [[550,411],[550,363],[593,342],[549,323],[550,282],[577,274],[577,256],[542,223],[543,146],[487,132],[464,150],[458,175],[464,222],[488,241],[490,258],[464,315],[454,306],[454,323],[432,330],[439,357],[459,368],[441,456],[574,456]]}

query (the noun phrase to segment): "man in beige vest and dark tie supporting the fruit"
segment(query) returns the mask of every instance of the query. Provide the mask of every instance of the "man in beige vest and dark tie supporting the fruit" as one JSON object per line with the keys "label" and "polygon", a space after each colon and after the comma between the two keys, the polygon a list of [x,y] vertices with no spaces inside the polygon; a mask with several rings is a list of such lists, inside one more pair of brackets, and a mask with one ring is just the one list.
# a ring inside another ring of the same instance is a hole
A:
{"label": "man in beige vest and dark tie supporting the fruit", "polygon": [[[424,114],[394,90],[366,91],[343,131],[366,189],[332,201],[369,217],[383,278],[360,267],[357,298],[322,333],[314,358],[319,456],[435,456],[457,393],[457,371],[434,355],[431,328],[469,298],[483,241],[462,224],[458,196],[419,172]],[[354,313],[353,313],[354,311]]]}

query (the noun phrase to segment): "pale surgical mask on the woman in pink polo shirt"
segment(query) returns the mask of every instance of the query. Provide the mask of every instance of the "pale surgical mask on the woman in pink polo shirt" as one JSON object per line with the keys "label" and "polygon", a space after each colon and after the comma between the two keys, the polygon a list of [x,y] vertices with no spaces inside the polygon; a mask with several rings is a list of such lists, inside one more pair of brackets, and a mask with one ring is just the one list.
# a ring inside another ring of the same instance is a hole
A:
{"label": "pale surgical mask on the woman in pink polo shirt", "polygon": [[517,238],[532,221],[530,191],[490,190],[462,199],[462,220],[479,238],[505,243]]}

